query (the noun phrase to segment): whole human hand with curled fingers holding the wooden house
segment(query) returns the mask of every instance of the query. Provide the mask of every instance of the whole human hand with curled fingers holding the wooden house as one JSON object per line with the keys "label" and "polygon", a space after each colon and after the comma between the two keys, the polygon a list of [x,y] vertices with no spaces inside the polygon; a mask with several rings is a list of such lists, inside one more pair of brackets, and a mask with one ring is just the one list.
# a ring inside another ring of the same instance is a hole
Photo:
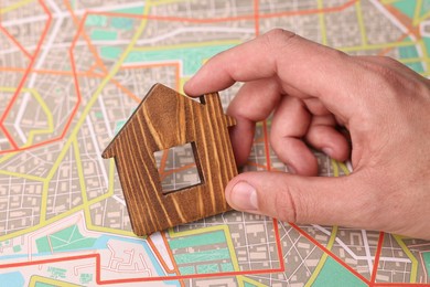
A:
{"label": "whole human hand with curled fingers holding the wooden house", "polygon": [[[275,113],[270,144],[295,174],[237,176],[226,188],[234,209],[430,240],[428,79],[388,57],[348,56],[273,30],[214,56],[184,89],[198,96],[235,82],[245,82],[227,110],[237,162],[249,156],[255,123]],[[304,141],[341,161],[351,155],[354,172],[314,177]]]}

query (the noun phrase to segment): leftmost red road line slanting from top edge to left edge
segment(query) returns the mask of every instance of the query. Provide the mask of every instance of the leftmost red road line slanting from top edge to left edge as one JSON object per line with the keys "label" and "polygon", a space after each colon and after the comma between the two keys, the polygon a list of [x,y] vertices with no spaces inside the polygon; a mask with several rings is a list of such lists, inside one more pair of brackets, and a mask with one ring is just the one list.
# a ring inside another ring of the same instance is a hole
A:
{"label": "leftmost red road line slanting from top edge to left edge", "polygon": [[[18,87],[17,87],[15,93],[13,94],[11,100],[7,104],[7,107],[6,107],[4,111],[3,111],[3,115],[2,115],[1,118],[0,118],[0,125],[3,125],[4,119],[8,117],[10,110],[12,109],[12,106],[13,106],[13,104],[15,103],[15,100],[17,100],[17,98],[18,98],[18,95],[20,94],[20,92],[21,92],[21,89],[22,89],[22,87],[23,87],[23,85],[24,85],[24,83],[25,83],[25,81],[26,81],[26,77],[28,77],[29,74],[30,74],[30,70],[31,70],[31,67],[33,66],[33,64],[34,64],[34,62],[35,62],[35,59],[36,59],[36,56],[37,56],[37,54],[39,54],[39,52],[40,52],[40,50],[41,50],[42,43],[43,43],[43,41],[44,41],[45,38],[46,38],[47,30],[49,30],[50,26],[51,26],[52,14],[51,14],[51,12],[47,10],[45,3],[44,3],[42,0],[40,0],[39,2],[40,2],[40,4],[42,6],[42,8],[43,8],[43,10],[45,11],[45,13],[47,14],[47,21],[46,21],[46,24],[45,24],[45,26],[44,26],[44,29],[43,29],[41,39],[40,39],[39,42],[37,42],[37,45],[36,45],[36,49],[35,49],[35,51],[34,51],[34,54],[33,54],[33,56],[30,59],[29,66],[26,67],[25,72],[24,72],[24,75],[22,76],[20,83],[18,84]],[[9,132],[7,131],[7,129],[6,129],[3,126],[2,126],[2,129],[3,129],[3,132],[4,132],[4,134],[7,135],[7,137],[8,137]],[[13,148],[18,148],[17,142],[13,140],[12,137],[10,137],[10,135],[9,135],[9,137],[8,137],[8,140],[10,141],[10,144],[11,144],[11,146],[12,146]],[[1,151],[0,151],[0,153],[4,153],[4,152],[1,152]]]}

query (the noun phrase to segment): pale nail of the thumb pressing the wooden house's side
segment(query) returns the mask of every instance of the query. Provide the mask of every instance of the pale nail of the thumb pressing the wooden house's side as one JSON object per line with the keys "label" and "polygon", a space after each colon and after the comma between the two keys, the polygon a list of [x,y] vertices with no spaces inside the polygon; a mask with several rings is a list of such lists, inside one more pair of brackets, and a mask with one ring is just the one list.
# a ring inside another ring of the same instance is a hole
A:
{"label": "pale nail of the thumb pressing the wooden house's side", "polygon": [[233,187],[232,203],[239,210],[257,210],[257,190],[246,181],[239,181]]}

